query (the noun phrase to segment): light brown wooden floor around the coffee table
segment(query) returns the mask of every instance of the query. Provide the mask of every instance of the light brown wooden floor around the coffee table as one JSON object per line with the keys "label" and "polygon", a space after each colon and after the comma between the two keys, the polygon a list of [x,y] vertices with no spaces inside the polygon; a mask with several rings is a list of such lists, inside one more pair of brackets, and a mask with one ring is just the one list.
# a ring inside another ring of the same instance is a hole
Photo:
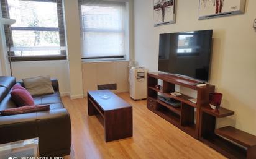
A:
{"label": "light brown wooden floor around the coffee table", "polygon": [[71,154],[65,158],[225,158],[147,110],[145,100],[131,100],[129,93],[118,95],[133,106],[134,135],[108,143],[98,118],[87,114],[86,98],[62,98],[72,125]]}

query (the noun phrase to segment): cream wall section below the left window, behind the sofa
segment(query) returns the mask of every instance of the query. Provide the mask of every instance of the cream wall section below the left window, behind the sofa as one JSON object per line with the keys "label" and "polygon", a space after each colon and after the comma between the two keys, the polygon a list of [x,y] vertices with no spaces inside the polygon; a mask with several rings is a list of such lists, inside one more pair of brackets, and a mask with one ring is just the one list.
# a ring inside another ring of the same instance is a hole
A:
{"label": "cream wall section below the left window, behind the sofa", "polygon": [[12,74],[17,80],[50,75],[58,79],[61,95],[69,95],[68,62],[66,60],[12,62]]}

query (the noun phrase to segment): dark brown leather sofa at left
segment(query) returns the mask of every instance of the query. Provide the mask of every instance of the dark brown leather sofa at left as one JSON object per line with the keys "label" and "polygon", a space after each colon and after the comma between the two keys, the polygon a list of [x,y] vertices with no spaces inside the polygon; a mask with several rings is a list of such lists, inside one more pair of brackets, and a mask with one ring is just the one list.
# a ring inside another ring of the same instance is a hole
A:
{"label": "dark brown leather sofa at left", "polygon": [[[22,82],[19,83],[23,85]],[[16,108],[10,95],[15,84],[14,77],[0,76],[0,110]],[[70,154],[70,115],[60,98],[57,79],[52,79],[52,86],[55,90],[54,94],[33,97],[35,105],[50,104],[50,111],[13,116],[0,115],[0,144],[39,137],[41,157],[60,157]]]}

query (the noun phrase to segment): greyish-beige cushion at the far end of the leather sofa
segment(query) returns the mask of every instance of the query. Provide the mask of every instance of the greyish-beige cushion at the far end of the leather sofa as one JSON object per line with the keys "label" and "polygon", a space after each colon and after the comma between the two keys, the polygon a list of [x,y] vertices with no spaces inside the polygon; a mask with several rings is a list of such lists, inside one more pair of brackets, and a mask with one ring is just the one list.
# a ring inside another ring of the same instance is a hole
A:
{"label": "greyish-beige cushion at the far end of the leather sofa", "polygon": [[45,95],[54,93],[50,76],[39,76],[22,79],[25,88],[31,95]]}

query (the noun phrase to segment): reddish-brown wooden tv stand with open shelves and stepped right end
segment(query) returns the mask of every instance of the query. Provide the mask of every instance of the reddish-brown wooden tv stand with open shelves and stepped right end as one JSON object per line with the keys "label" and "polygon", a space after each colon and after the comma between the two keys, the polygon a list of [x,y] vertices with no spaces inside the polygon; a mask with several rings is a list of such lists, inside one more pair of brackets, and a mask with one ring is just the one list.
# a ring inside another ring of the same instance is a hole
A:
{"label": "reddish-brown wooden tv stand with open shelves and stepped right end", "polygon": [[[160,89],[155,87],[158,84],[158,79],[163,80]],[[147,108],[228,158],[255,159],[256,136],[231,126],[216,129],[216,118],[231,116],[234,114],[234,111],[227,110],[226,108],[212,110],[209,106],[209,93],[214,92],[214,85],[208,84],[206,87],[196,87],[194,86],[196,83],[197,81],[195,80],[175,75],[160,72],[148,73]],[[192,97],[187,95],[180,95],[178,97],[170,95],[170,92],[175,92],[175,85],[196,90],[197,103],[191,103],[188,99]],[[158,93],[161,93],[164,97],[180,101],[181,106],[175,108],[161,101]]]}

